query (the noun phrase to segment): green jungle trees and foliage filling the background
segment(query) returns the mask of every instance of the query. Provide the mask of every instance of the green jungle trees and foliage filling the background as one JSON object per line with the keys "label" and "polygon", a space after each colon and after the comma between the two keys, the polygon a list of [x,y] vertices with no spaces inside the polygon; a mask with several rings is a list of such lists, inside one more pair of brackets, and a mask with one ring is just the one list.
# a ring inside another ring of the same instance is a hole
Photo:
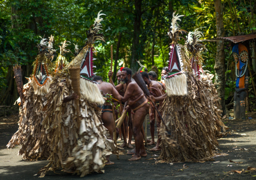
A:
{"label": "green jungle trees and foliage filling the background", "polygon": [[[25,84],[25,77],[32,73],[32,63],[38,52],[36,45],[41,40],[39,36],[54,36],[54,60],[64,40],[71,42],[68,48],[74,53],[74,44],[79,48],[85,44],[86,31],[100,10],[106,15],[102,16],[101,31],[106,43],[95,44],[97,56],[94,64],[97,68],[94,72],[103,80],[108,81],[110,45],[113,45],[114,77],[123,66],[137,71],[139,64],[136,60],[140,60],[149,70],[156,66],[160,80],[162,68],[168,65],[171,40],[166,35],[176,11],[185,15],[179,23],[181,29],[189,32],[206,27],[202,29],[202,39],[208,49],[204,52],[204,69],[217,77],[213,81],[224,105],[223,110],[225,105],[228,109],[233,107],[235,62],[231,56],[231,43],[213,39],[256,32],[255,0],[0,0],[0,106],[12,106],[19,97],[13,66],[21,65]],[[216,17],[216,12],[220,16]],[[255,111],[256,98],[251,85],[252,80],[256,81],[254,42],[250,43],[250,52],[253,79],[249,78],[247,111]],[[71,61],[74,54],[66,54],[66,57]]]}

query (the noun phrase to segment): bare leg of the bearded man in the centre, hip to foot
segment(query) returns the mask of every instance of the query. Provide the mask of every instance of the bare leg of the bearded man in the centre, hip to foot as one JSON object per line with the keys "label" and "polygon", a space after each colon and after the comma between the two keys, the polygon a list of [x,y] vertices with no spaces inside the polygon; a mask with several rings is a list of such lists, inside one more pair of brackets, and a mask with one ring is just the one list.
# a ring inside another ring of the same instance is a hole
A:
{"label": "bare leg of the bearded man in the centre, hip to foot", "polygon": [[143,125],[145,116],[149,112],[149,104],[145,104],[143,107],[136,110],[133,119],[133,133],[135,138],[135,155],[129,160],[139,160],[141,156],[147,156],[147,152],[143,143],[143,136],[141,133],[141,127]]}

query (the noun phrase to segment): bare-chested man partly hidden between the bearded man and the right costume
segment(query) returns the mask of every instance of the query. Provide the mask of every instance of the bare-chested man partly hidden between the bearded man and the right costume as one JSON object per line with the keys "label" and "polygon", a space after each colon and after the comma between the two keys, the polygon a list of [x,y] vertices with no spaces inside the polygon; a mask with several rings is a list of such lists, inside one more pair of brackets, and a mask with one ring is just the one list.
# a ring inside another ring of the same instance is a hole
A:
{"label": "bare-chested man partly hidden between the bearded man and the right costume", "polygon": [[[145,83],[148,85],[148,89],[151,93],[151,95],[153,95],[154,97],[159,97],[162,96],[163,93],[163,88],[162,86],[157,82],[157,81],[153,81],[149,79],[149,75],[146,72],[141,72],[141,76],[143,78],[143,80],[145,81]],[[162,105],[162,102],[160,103],[160,106]],[[151,142],[149,143],[149,145],[155,144],[155,137],[154,137],[154,132],[155,132],[155,107],[153,106],[153,104],[150,104],[150,115],[149,115],[149,119],[150,119],[150,133],[151,133]],[[157,127],[160,127],[160,123],[161,123],[161,119],[160,117],[157,118]],[[160,144],[160,137],[158,134],[158,139],[157,139],[157,144],[154,148],[150,149],[151,151],[157,151],[157,150],[161,150],[161,148],[159,147]]]}

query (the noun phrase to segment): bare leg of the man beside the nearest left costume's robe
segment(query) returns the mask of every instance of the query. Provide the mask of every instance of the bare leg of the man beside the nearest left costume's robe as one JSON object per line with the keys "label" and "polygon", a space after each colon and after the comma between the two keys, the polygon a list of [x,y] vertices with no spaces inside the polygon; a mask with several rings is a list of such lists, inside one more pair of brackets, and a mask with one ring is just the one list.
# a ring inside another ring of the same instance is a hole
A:
{"label": "bare leg of the man beside the nearest left costume's robe", "polygon": [[[112,112],[103,112],[102,113],[102,122],[103,125],[108,129],[109,134],[110,134],[110,139],[113,140],[114,139],[114,128],[115,128],[115,122],[114,122],[114,117]],[[114,162],[111,162],[109,160],[109,156],[106,156],[107,162],[106,165],[110,165],[110,164],[114,164]]]}

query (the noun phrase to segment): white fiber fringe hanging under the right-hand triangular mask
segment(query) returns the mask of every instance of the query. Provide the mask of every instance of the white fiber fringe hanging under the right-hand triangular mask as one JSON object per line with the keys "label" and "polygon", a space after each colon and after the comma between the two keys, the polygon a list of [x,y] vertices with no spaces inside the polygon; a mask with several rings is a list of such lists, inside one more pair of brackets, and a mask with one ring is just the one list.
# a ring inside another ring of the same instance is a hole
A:
{"label": "white fiber fringe hanging under the right-hand triangular mask", "polygon": [[166,92],[171,96],[184,96],[187,94],[186,75],[184,73],[178,74],[171,78],[164,80]]}

